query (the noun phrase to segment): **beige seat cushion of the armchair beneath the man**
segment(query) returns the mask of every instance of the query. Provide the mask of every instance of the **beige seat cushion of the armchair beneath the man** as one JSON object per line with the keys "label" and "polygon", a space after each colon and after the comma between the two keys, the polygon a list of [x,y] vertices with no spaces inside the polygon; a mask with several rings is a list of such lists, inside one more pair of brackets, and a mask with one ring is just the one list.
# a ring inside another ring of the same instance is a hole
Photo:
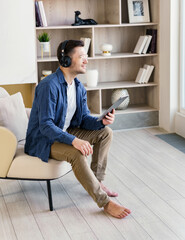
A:
{"label": "beige seat cushion of the armchair beneath the man", "polygon": [[7,177],[40,180],[56,179],[69,171],[71,171],[71,165],[66,161],[49,159],[48,163],[45,163],[38,157],[25,154],[24,142],[20,142]]}

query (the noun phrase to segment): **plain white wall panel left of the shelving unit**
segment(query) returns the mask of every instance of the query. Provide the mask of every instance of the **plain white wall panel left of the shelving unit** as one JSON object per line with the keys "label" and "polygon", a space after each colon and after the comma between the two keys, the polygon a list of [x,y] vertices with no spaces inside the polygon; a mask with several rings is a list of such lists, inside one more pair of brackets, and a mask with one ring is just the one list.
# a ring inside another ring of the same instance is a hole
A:
{"label": "plain white wall panel left of the shelving unit", "polygon": [[33,0],[0,5],[0,85],[36,82]]}

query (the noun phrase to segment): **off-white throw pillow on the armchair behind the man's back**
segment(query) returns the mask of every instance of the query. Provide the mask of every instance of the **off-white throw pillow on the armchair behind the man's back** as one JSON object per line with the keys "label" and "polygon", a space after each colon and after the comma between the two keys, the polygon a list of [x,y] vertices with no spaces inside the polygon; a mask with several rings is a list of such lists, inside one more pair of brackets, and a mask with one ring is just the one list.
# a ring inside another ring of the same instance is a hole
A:
{"label": "off-white throw pillow on the armchair behind the man's back", "polygon": [[0,98],[0,126],[12,131],[17,141],[26,138],[28,117],[20,92]]}

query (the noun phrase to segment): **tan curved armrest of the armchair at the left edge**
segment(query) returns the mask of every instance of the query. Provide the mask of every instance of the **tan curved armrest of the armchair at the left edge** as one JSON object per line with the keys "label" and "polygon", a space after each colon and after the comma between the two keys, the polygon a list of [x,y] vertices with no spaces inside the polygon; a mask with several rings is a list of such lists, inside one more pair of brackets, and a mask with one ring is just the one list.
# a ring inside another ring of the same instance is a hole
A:
{"label": "tan curved armrest of the armchair at the left edge", "polygon": [[7,128],[0,127],[0,177],[7,176],[16,149],[16,136]]}

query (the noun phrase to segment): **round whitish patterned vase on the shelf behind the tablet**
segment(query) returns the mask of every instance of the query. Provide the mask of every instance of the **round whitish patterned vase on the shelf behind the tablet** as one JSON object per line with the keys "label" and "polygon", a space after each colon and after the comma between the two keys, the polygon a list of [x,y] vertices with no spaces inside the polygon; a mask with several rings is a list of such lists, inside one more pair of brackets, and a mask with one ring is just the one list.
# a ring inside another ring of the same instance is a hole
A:
{"label": "round whitish patterned vase on the shelf behind the tablet", "polygon": [[112,102],[112,104],[115,103],[120,97],[125,97],[125,96],[128,96],[128,98],[126,98],[117,107],[117,109],[124,110],[124,109],[126,109],[128,107],[128,104],[130,102],[129,93],[128,93],[127,89],[124,89],[124,88],[113,90],[112,95],[111,95],[111,102]]}

